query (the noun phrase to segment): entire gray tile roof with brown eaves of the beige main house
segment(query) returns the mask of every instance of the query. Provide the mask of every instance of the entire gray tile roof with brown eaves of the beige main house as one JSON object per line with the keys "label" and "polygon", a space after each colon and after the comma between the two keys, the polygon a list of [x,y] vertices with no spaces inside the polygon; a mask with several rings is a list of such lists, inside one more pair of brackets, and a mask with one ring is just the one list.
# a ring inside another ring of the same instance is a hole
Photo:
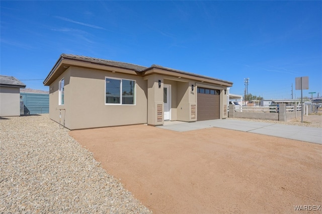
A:
{"label": "entire gray tile roof with brown eaves of the beige main house", "polygon": [[189,73],[181,70],[176,70],[172,68],[163,67],[160,65],[151,65],[150,67],[145,67],[141,65],[118,62],[106,59],[99,59],[87,56],[79,56],[73,54],[61,54],[57,60],[54,67],[51,69],[49,74],[44,80],[44,85],[50,85],[58,76],[63,73],[69,66],[75,67],[86,67],[92,69],[110,70],[116,69],[119,72],[126,72],[134,75],[146,76],[152,73],[158,73],[162,75],[169,76],[182,76],[189,79],[196,79],[201,82],[209,81],[210,83],[216,83],[220,85],[231,86],[232,82],[216,79],[208,76],[203,76],[199,74]]}

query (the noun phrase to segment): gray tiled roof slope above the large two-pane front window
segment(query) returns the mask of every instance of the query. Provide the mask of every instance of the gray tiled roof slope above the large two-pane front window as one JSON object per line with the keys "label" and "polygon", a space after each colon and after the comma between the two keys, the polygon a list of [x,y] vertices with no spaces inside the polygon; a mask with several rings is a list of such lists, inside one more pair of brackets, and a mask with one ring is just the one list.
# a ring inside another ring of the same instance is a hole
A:
{"label": "gray tiled roof slope above the large two-pane front window", "polygon": [[141,65],[135,65],[135,64],[126,63],[126,62],[118,62],[118,61],[99,59],[99,58],[93,58],[88,56],[79,56],[79,55],[73,55],[73,54],[61,54],[61,57],[64,59],[87,61],[91,63],[110,65],[110,66],[120,67],[120,68],[127,68],[131,70],[136,70],[136,71],[142,71],[147,68]]}

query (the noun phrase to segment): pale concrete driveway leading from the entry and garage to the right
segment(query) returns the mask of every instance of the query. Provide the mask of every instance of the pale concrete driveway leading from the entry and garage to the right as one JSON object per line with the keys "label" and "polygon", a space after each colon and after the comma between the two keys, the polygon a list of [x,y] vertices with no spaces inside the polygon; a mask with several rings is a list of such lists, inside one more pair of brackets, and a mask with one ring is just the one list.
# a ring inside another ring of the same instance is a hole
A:
{"label": "pale concrete driveway leading from the entry and garage to the right", "polygon": [[238,120],[210,120],[197,121],[193,123],[173,121],[165,122],[163,126],[157,128],[168,129],[176,132],[185,132],[205,128],[223,128],[236,131],[270,135],[298,141],[322,144],[322,129],[302,126],[289,126],[273,123],[260,123]]}

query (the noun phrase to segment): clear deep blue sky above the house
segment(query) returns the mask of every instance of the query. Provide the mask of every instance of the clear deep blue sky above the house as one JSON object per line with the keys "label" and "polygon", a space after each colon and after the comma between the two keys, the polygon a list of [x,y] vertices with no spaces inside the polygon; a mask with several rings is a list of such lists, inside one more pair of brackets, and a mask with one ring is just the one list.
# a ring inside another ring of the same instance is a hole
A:
{"label": "clear deep blue sky above the house", "polygon": [[[60,54],[158,64],[290,98],[322,92],[321,1],[1,1],[2,75],[43,86]],[[33,80],[37,79],[37,80]],[[38,80],[40,79],[40,80]]]}

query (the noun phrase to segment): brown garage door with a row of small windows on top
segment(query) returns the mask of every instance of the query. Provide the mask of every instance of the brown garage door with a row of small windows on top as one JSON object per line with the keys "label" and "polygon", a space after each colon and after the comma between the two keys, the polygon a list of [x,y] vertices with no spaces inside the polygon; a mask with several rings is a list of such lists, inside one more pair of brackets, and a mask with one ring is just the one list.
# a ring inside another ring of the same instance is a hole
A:
{"label": "brown garage door with a row of small windows on top", "polygon": [[198,87],[197,120],[215,120],[220,115],[220,90]]}

